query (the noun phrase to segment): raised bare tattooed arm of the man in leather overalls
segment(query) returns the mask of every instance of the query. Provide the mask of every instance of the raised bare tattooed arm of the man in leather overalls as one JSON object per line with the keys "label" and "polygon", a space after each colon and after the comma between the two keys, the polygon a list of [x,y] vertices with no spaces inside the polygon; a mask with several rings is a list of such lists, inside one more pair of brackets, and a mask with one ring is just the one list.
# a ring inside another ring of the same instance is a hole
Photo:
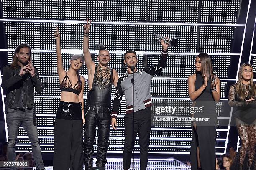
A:
{"label": "raised bare tattooed arm of the man in leather overalls", "polygon": [[88,74],[95,69],[95,63],[92,61],[92,56],[89,51],[89,32],[91,27],[91,20],[88,23],[88,18],[86,20],[86,24],[84,24],[84,40],[83,40],[83,53],[84,53],[84,61],[88,70]]}

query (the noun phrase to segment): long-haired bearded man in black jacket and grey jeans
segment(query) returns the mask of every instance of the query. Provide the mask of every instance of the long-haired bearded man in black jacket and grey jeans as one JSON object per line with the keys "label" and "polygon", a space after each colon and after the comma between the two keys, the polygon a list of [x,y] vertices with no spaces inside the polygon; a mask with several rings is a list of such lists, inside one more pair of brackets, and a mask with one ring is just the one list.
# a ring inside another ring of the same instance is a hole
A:
{"label": "long-haired bearded man in black jacket and grey jeans", "polygon": [[31,48],[20,44],[15,49],[13,63],[3,68],[1,87],[6,90],[5,113],[8,128],[8,160],[14,161],[15,147],[19,126],[26,130],[36,162],[37,170],[44,170],[39,146],[36,114],[34,104],[34,89],[37,93],[43,91],[38,69],[32,64]]}

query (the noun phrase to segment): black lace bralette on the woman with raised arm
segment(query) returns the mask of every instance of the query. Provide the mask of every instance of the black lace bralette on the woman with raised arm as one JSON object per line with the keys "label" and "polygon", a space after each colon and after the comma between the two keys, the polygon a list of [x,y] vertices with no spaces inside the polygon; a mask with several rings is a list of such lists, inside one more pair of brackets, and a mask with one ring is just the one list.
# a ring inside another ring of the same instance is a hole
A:
{"label": "black lace bralette on the woman with raised arm", "polygon": [[72,92],[74,94],[79,95],[81,90],[82,90],[82,84],[79,84],[79,81],[77,81],[77,83],[73,87],[69,79],[69,76],[67,76],[67,72],[66,72],[66,76],[64,77],[64,79],[60,84],[60,91]]}

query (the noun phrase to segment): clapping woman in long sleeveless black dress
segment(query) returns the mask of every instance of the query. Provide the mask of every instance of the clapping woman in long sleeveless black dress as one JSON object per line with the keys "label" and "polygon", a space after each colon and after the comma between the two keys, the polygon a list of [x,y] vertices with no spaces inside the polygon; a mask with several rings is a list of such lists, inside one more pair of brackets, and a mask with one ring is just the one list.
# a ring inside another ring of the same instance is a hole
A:
{"label": "clapping woman in long sleeveless black dress", "polygon": [[197,55],[195,69],[195,74],[188,77],[188,93],[192,106],[202,108],[202,112],[195,112],[192,116],[203,121],[192,123],[191,170],[215,170],[215,101],[220,100],[220,80],[213,73],[212,61],[207,53]]}

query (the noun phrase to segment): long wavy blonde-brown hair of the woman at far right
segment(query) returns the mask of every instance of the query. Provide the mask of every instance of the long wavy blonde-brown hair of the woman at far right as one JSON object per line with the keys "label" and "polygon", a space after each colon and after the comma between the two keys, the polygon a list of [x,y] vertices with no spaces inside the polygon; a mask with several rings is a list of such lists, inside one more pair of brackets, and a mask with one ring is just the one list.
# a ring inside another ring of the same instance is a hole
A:
{"label": "long wavy blonde-brown hair of the woman at far right", "polygon": [[255,94],[256,94],[256,88],[255,88],[254,81],[253,81],[253,68],[252,68],[251,64],[243,63],[239,68],[238,81],[236,83],[236,89],[237,89],[237,94],[236,95],[237,95],[238,99],[240,99],[240,100],[244,100],[244,98],[246,97],[244,89],[243,89],[243,82],[242,82],[243,70],[244,70],[245,66],[249,66],[251,68],[251,71],[252,71],[251,80],[250,80],[250,89],[249,89],[248,95],[251,98],[252,96],[255,96]]}

